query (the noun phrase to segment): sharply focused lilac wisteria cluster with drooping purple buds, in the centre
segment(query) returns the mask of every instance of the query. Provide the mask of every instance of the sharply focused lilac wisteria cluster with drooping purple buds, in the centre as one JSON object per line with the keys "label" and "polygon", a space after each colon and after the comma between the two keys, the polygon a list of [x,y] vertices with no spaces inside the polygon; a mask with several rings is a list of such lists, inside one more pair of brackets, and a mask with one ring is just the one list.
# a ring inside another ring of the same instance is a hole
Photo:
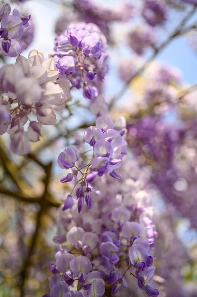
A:
{"label": "sharply focused lilac wisteria cluster with drooping purple buds, in the centre", "polygon": [[[94,191],[91,182],[96,176],[102,177],[109,174],[115,179],[120,179],[117,169],[121,166],[122,158],[126,155],[127,143],[123,139],[125,133],[124,127],[115,127],[114,122],[107,116],[99,116],[96,119],[96,126],[90,126],[84,132],[83,139],[89,144],[92,150],[91,156],[88,156],[88,163],[81,164],[81,153],[76,148],[65,148],[58,157],[58,165],[62,169],[72,169],[72,173],[68,173],[61,179],[61,183],[68,183],[75,179],[75,186],[79,184],[76,191],[78,200],[78,211],[80,212],[84,205],[84,199],[91,208],[92,193],[100,194],[99,191]],[[78,166],[76,166],[78,162]],[[80,175],[80,177],[79,177]],[[71,195],[73,194],[72,190]],[[65,209],[73,205],[71,195],[68,196]]]}

